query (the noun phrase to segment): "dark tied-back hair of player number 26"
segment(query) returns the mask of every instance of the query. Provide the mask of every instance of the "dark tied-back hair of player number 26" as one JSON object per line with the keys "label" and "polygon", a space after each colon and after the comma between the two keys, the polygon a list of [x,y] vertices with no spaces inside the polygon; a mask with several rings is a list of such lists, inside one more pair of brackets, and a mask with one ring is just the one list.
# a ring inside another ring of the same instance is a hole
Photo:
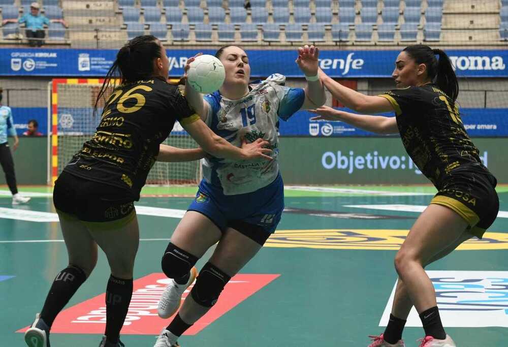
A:
{"label": "dark tied-back hair of player number 26", "polygon": [[96,115],[101,98],[106,99],[106,93],[116,88],[117,81],[126,84],[149,79],[153,76],[153,60],[161,57],[161,46],[152,35],[137,36],[120,48],[104,78],[93,106],[93,116]]}

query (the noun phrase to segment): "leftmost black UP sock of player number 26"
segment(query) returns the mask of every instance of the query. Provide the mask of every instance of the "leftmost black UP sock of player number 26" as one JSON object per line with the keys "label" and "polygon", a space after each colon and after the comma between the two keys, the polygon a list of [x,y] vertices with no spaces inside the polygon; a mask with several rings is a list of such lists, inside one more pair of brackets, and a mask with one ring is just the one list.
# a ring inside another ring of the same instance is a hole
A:
{"label": "leftmost black UP sock of player number 26", "polygon": [[67,305],[85,280],[85,272],[74,265],[69,265],[56,275],[41,311],[41,318],[48,327],[51,328],[57,314]]}

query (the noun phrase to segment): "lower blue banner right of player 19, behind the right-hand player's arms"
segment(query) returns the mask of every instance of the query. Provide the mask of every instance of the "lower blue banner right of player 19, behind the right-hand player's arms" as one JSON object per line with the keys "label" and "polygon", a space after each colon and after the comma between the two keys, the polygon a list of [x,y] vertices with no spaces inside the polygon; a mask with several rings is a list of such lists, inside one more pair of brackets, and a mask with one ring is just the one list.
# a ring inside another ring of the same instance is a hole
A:
{"label": "lower blue banner right of player 19, behind the right-hand player's arms", "polygon": [[[342,109],[349,111],[347,109]],[[508,137],[508,109],[462,108],[464,128],[470,137]],[[393,115],[386,114],[386,115]],[[281,136],[362,137],[382,136],[352,127],[344,122],[310,120],[315,114],[298,111],[288,121],[280,122]],[[390,135],[398,136],[398,135]]]}

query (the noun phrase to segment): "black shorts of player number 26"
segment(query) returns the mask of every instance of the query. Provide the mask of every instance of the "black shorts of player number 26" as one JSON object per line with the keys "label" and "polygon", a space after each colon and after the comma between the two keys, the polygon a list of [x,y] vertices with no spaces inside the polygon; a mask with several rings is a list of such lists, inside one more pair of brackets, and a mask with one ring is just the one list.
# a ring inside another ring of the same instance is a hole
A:
{"label": "black shorts of player number 26", "polygon": [[134,202],[112,185],[62,172],[55,182],[53,203],[60,218],[81,220],[87,227],[113,229],[136,216]]}

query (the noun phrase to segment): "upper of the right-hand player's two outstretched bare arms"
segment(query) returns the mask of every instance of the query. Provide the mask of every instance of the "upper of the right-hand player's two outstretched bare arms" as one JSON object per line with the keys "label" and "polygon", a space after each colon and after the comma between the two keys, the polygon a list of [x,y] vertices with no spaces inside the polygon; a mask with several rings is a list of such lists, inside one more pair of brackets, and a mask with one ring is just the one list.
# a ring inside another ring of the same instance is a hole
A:
{"label": "upper of the right-hand player's two outstretched bare arms", "polygon": [[385,98],[368,96],[347,88],[334,81],[321,69],[319,69],[319,76],[325,87],[332,93],[332,96],[352,110],[360,113],[394,112],[392,104]]}

